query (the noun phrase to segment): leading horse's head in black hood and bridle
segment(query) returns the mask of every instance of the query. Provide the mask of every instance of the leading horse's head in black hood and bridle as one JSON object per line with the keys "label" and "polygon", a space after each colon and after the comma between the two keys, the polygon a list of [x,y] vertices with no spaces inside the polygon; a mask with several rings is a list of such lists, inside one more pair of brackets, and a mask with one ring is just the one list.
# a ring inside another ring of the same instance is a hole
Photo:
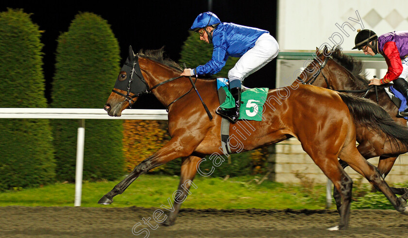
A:
{"label": "leading horse's head in black hood and bridle", "polygon": [[122,111],[131,107],[137,97],[149,93],[149,86],[140,71],[138,55],[129,46],[129,57],[120,69],[112,93],[103,109],[110,116],[121,116]]}

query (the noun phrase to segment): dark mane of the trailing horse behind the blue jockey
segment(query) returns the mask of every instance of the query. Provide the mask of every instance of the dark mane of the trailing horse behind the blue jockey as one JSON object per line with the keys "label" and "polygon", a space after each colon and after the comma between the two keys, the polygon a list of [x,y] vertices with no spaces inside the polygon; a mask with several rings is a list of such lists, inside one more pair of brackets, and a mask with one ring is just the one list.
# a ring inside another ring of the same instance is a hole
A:
{"label": "dark mane of the trailing horse behind the blue jockey", "polygon": [[354,59],[350,55],[343,54],[339,48],[334,50],[331,54],[333,60],[343,66],[345,69],[350,71],[350,73],[358,80],[356,80],[357,84],[360,84],[362,88],[367,87],[368,80],[366,75],[361,74],[363,68],[363,62],[360,60]]}

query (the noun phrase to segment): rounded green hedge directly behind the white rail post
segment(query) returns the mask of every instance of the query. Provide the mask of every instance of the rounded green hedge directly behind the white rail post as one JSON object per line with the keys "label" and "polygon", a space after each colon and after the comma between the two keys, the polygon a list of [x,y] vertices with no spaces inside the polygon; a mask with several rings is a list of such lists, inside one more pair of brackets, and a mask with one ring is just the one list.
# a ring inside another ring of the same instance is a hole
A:
{"label": "rounded green hedge directly behind the white rail post", "polygon": [[[58,38],[53,108],[103,108],[119,73],[119,44],[110,25],[80,13]],[[73,181],[77,120],[53,120],[57,178]],[[85,120],[84,179],[123,175],[122,120]]]}

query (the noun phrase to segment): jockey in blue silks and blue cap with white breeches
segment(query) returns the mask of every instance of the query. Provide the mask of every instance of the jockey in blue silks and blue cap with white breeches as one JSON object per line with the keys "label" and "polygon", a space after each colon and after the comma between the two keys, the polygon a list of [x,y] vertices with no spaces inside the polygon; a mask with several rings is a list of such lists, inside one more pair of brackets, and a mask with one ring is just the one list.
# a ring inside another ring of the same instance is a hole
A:
{"label": "jockey in blue silks and blue cap with white breeches", "polygon": [[235,108],[218,108],[216,111],[235,123],[239,117],[242,81],[272,61],[278,55],[279,45],[267,31],[221,22],[211,12],[198,15],[190,31],[198,32],[200,40],[212,43],[214,49],[210,61],[194,69],[185,69],[181,76],[216,74],[220,72],[229,56],[240,57],[228,72],[229,89],[234,97]]}

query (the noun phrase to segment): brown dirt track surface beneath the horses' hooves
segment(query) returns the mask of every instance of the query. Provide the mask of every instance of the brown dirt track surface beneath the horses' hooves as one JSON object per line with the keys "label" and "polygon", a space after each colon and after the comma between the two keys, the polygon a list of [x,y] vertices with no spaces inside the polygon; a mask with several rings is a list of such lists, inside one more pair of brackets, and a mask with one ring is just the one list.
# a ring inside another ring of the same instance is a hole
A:
{"label": "brown dirt track surface beneath the horses' hooves", "polygon": [[[348,230],[334,210],[182,209],[176,224],[157,226],[142,207],[0,207],[0,237],[407,237],[408,215],[393,210],[352,210]],[[161,208],[163,209],[163,208]],[[143,224],[149,220],[155,228]]]}

